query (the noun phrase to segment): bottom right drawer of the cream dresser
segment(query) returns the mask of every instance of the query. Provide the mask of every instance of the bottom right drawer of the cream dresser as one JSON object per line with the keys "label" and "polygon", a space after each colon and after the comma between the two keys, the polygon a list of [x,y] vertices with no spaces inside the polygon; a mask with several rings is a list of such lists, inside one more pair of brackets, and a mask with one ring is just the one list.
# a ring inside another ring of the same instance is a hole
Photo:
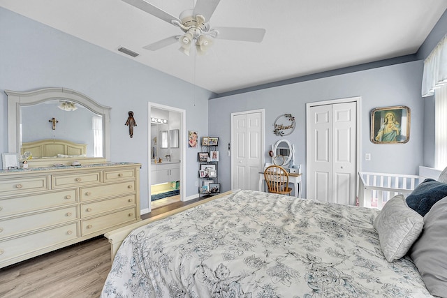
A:
{"label": "bottom right drawer of the cream dresser", "polygon": [[135,220],[135,207],[133,207],[112,214],[81,221],[81,233],[82,236],[85,236],[87,234],[105,229],[112,230],[115,225],[121,225],[123,223],[128,223]]}

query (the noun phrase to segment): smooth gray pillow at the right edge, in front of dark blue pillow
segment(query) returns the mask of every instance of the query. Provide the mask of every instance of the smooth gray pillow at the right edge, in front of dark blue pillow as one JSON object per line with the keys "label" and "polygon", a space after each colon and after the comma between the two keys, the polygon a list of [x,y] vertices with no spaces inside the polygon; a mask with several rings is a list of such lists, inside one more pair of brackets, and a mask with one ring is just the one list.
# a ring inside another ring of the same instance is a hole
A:
{"label": "smooth gray pillow at the right edge, in front of dark blue pillow", "polygon": [[410,249],[410,258],[430,294],[447,295],[447,197],[424,216],[424,229]]}

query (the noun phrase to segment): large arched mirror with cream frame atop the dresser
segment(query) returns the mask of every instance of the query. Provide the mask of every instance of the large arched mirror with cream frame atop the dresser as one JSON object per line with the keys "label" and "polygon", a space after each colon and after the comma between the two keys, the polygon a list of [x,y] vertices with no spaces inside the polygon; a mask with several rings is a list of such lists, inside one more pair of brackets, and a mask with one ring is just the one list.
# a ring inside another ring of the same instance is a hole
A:
{"label": "large arched mirror with cream frame atop the dresser", "polygon": [[30,166],[109,160],[110,107],[71,89],[5,93],[8,151],[30,152]]}

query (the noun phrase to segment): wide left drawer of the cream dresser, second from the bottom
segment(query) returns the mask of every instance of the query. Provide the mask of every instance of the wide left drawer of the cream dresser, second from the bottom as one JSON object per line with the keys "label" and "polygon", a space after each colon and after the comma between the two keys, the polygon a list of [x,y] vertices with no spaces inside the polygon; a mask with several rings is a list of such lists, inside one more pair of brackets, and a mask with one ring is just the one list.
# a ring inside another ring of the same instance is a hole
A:
{"label": "wide left drawer of the cream dresser, second from the bottom", "polygon": [[78,219],[78,207],[66,207],[0,221],[0,239]]}

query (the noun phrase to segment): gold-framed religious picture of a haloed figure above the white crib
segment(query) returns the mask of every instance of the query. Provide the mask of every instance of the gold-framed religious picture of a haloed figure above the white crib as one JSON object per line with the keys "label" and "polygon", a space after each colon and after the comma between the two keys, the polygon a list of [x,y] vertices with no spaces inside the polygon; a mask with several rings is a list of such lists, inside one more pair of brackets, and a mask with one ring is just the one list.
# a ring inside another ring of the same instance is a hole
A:
{"label": "gold-framed religious picture of a haloed figure above the white crib", "polygon": [[410,139],[410,108],[377,107],[371,112],[371,142],[375,144],[406,143]]}

